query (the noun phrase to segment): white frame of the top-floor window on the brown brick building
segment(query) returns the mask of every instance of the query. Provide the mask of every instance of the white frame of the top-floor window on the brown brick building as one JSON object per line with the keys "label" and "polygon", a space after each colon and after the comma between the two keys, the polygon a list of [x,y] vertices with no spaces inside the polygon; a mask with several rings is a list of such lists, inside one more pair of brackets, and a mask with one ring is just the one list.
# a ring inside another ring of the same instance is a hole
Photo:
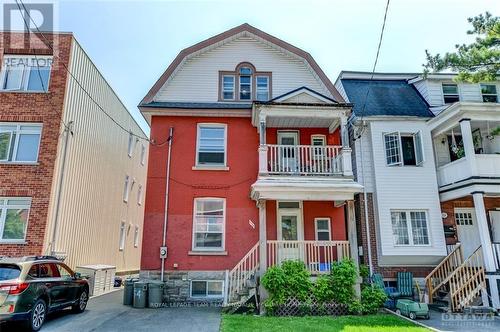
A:
{"label": "white frame of the top-floor window on the brown brick building", "polygon": [[[3,86],[5,85],[5,78],[7,76],[7,60],[8,59],[27,59],[28,61],[38,61],[40,64],[40,60],[45,60],[50,62],[50,71],[49,71],[49,77],[47,79],[47,86],[44,86],[45,90],[28,90],[28,85],[29,85],[29,77],[31,70],[38,70],[37,66],[25,66],[23,65],[23,73],[22,73],[22,78],[21,82],[19,83],[19,87],[17,89],[4,89]],[[36,57],[33,55],[14,55],[14,54],[5,54],[3,56],[3,63],[2,63],[2,70],[0,71],[0,92],[18,92],[18,91],[25,91],[29,93],[48,93],[49,91],[49,86],[50,86],[50,77],[52,76],[52,65],[53,65],[53,58],[52,56],[40,56],[37,55]]]}

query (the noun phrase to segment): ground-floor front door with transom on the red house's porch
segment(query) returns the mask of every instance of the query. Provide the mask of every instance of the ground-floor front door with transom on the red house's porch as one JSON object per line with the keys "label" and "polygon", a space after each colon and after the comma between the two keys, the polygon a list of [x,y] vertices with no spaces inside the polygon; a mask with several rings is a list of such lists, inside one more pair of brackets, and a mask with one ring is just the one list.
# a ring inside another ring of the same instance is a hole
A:
{"label": "ground-floor front door with transom on the red house's porch", "polygon": [[[282,206],[282,208],[280,208]],[[302,210],[299,202],[278,203],[278,261],[298,260],[303,258],[304,228],[302,224]]]}

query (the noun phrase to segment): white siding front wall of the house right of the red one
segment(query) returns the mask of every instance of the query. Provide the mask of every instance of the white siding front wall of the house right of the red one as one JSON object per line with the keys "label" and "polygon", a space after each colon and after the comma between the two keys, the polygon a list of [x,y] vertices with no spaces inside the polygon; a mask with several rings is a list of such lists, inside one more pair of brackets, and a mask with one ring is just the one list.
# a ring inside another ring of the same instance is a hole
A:
{"label": "white siding front wall of the house right of the red one", "polygon": [[[390,167],[386,165],[383,133],[421,131],[425,162],[422,166]],[[381,263],[384,256],[404,257],[408,263],[435,264],[446,254],[441,209],[432,150],[431,135],[424,121],[370,122],[373,169],[376,178],[377,234]],[[420,209],[427,211],[429,246],[395,246],[392,236],[391,210]],[[420,256],[420,257],[419,257]],[[426,261],[427,260],[427,261]]]}

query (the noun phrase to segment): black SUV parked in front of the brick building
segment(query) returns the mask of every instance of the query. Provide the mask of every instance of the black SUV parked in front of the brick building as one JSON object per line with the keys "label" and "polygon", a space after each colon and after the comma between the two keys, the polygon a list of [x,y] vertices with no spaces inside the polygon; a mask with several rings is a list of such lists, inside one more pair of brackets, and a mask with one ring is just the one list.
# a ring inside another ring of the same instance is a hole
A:
{"label": "black SUV parked in front of the brick building", "polygon": [[38,331],[48,313],[66,307],[80,313],[88,298],[87,280],[55,257],[0,259],[0,323],[23,320]]}

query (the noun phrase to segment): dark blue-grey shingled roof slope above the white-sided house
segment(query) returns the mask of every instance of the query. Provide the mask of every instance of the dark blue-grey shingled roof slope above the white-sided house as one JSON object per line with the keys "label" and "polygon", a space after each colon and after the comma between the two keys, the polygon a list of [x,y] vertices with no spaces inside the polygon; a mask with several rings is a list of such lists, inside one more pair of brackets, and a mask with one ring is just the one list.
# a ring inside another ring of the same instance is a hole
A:
{"label": "dark blue-grey shingled roof slope above the white-sided house", "polygon": [[425,99],[406,80],[341,79],[341,82],[357,116],[433,117]]}

